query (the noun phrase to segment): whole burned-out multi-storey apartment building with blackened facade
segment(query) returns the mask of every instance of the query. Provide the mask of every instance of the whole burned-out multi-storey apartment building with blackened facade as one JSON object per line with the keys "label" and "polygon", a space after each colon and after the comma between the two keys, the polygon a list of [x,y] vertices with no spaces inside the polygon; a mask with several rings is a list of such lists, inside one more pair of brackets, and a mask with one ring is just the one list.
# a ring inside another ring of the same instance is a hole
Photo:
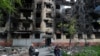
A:
{"label": "whole burned-out multi-storey apartment building with blackened facade", "polygon": [[[100,5],[99,0],[22,0],[22,5],[15,4],[17,13],[4,13],[5,19],[0,19],[3,21],[0,24],[0,45],[67,44],[70,36],[66,34],[64,24],[68,24],[73,15],[77,15],[77,32],[72,42],[85,42],[86,39],[88,42],[99,42],[97,22],[100,14],[94,12]],[[98,16],[93,16],[96,14]]]}

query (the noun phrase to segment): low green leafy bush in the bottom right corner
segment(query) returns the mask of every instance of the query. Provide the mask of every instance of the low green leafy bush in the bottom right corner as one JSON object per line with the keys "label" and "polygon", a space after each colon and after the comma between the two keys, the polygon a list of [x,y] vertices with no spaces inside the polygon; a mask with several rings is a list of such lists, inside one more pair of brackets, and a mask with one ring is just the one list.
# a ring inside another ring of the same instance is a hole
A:
{"label": "low green leafy bush in the bottom right corner", "polygon": [[100,56],[100,46],[85,47],[83,50],[75,53],[74,56]]}

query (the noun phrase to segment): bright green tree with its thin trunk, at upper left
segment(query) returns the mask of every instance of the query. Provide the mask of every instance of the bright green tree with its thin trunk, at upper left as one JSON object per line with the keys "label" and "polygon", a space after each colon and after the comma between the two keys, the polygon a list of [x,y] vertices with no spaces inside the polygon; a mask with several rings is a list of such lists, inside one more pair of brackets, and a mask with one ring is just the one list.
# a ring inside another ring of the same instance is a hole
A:
{"label": "bright green tree with its thin trunk, at upper left", "polygon": [[[15,4],[21,6],[21,0],[0,0],[0,19],[5,19],[3,18],[3,14],[6,13],[9,15],[8,20],[9,20],[9,32],[7,37],[7,42],[10,40],[10,16],[12,13],[16,12]],[[0,24],[2,24],[3,21],[0,21]]]}

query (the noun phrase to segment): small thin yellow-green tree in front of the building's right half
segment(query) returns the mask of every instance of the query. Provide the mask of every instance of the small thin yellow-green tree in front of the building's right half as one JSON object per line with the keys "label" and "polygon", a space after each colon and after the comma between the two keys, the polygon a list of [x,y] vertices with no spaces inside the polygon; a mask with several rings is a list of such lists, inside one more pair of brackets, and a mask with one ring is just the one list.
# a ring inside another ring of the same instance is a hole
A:
{"label": "small thin yellow-green tree in front of the building's right half", "polygon": [[76,33],[75,25],[76,25],[76,17],[70,17],[68,23],[60,23],[58,27],[66,28],[66,35],[70,35],[69,46],[71,45],[71,39],[73,38],[74,34]]}

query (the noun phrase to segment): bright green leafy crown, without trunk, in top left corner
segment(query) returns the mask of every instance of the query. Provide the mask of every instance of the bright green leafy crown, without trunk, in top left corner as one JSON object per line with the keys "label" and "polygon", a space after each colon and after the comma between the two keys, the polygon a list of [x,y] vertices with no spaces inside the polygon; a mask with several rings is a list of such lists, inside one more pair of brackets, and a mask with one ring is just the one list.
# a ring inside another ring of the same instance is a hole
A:
{"label": "bright green leafy crown, without trunk, in top left corner", "polygon": [[15,3],[21,5],[21,0],[0,0],[0,14],[2,14],[1,10],[7,13],[14,12]]}

